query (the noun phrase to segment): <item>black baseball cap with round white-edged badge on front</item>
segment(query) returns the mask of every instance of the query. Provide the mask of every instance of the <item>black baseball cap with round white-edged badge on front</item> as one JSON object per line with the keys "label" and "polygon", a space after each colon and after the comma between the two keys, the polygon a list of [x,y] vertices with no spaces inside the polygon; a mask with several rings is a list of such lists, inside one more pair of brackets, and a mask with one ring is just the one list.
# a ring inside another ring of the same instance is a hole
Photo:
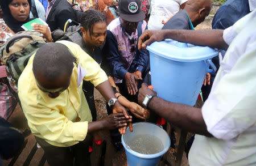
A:
{"label": "black baseball cap with round white-edged badge on front", "polygon": [[127,22],[140,22],[146,17],[141,10],[141,0],[119,0],[118,11]]}

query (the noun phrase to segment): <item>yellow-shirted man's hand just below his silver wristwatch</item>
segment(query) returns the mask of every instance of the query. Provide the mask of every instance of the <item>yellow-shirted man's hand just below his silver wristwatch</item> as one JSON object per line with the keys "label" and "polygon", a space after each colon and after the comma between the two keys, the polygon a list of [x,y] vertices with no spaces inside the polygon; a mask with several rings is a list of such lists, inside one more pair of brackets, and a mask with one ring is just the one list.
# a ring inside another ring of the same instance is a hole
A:
{"label": "yellow-shirted man's hand just below his silver wristwatch", "polygon": [[[125,116],[126,119],[131,119],[131,116],[129,116],[127,110],[118,102],[115,102],[114,108],[113,108],[113,113],[123,113],[123,115]],[[130,131],[133,132],[133,125],[131,124],[131,122],[128,123]],[[125,134],[126,133],[126,126],[123,126],[121,128],[118,129],[119,133]]]}

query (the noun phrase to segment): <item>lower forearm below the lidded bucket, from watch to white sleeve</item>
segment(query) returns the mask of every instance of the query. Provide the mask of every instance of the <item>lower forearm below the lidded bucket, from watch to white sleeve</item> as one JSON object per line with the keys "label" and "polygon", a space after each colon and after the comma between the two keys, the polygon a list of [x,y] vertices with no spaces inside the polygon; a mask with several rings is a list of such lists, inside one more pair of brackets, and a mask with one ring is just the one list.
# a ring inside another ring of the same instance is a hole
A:
{"label": "lower forearm below the lidded bucket, from watch to white sleeve", "polygon": [[207,126],[199,108],[170,103],[159,97],[153,97],[148,104],[148,108],[181,129],[208,137],[212,136],[207,131]]}

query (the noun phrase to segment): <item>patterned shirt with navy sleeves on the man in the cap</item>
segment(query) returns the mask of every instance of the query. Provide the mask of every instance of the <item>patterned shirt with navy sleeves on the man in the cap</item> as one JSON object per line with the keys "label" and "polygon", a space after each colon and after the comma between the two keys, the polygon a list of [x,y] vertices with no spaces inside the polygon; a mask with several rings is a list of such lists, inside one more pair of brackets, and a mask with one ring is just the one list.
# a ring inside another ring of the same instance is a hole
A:
{"label": "patterned shirt with navy sleeves on the man in the cap", "polygon": [[[140,25],[140,24],[139,24]],[[139,27],[138,25],[138,27]],[[147,23],[143,20],[141,22],[142,33],[145,31]],[[146,50],[138,50],[138,28],[136,32],[128,35],[125,32],[125,28],[122,27],[120,19],[114,19],[109,25],[106,41],[109,44],[108,59],[113,66],[113,74],[115,76],[115,83],[121,83],[125,74],[129,71],[134,73],[135,71],[143,71],[147,67],[148,52]],[[130,39],[134,40],[133,42]],[[134,48],[134,49],[133,49]]]}

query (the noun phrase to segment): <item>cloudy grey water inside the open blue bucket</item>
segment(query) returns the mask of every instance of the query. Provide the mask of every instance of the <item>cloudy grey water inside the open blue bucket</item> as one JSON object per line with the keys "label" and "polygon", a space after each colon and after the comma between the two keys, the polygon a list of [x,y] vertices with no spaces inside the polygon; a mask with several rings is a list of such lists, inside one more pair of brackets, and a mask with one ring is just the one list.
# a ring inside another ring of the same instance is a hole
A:
{"label": "cloudy grey water inside the open blue bucket", "polygon": [[157,154],[164,150],[162,141],[155,135],[150,134],[135,135],[135,137],[127,143],[127,146],[135,152],[146,155]]}

